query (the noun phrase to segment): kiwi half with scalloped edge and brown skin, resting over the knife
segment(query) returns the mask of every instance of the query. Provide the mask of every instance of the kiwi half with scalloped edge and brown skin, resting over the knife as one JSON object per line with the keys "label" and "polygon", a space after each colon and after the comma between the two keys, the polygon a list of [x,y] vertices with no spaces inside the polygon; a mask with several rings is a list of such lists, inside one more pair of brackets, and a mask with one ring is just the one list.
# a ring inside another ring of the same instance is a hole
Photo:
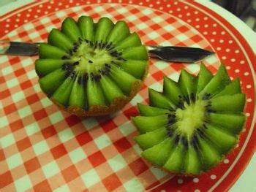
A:
{"label": "kiwi half with scalloped edge and brown skin, resting over the knife", "polygon": [[140,90],[148,51],[124,20],[66,18],[39,45],[35,61],[42,91],[61,109],[78,116],[108,115]]}

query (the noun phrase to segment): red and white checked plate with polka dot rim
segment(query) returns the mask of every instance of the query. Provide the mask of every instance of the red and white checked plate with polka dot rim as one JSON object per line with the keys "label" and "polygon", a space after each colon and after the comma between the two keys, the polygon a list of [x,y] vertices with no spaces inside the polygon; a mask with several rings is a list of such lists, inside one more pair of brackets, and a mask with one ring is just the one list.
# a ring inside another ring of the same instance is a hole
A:
{"label": "red and white checked plate with polka dot rim", "polygon": [[[77,118],[60,111],[40,91],[34,57],[1,56],[1,183],[4,191],[226,191],[255,152],[253,123],[255,55],[244,37],[220,15],[194,1],[35,1],[1,16],[1,39],[43,42],[70,16],[126,20],[147,45],[182,45],[213,50],[211,72],[225,62],[246,93],[246,127],[235,150],[217,168],[198,177],[178,177],[140,158],[130,117],[147,88],[160,91],[162,75],[177,80],[181,68],[197,74],[199,64],[151,59],[143,88],[120,112]],[[207,183],[207,185],[206,185]]]}

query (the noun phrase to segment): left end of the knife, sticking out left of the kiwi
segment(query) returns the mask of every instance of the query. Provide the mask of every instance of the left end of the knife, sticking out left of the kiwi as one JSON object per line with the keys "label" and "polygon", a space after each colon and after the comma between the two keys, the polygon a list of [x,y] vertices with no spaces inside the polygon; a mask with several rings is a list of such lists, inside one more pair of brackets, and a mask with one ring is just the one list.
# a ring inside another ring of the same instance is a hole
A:
{"label": "left end of the knife, sticking out left of the kiwi", "polygon": [[31,42],[0,41],[0,55],[37,55],[38,45]]}

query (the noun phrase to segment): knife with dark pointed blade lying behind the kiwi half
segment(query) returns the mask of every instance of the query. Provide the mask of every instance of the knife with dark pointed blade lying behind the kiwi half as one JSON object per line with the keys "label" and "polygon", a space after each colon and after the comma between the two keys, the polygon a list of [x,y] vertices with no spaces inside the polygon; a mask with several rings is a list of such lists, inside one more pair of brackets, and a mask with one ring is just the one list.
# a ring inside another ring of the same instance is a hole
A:
{"label": "knife with dark pointed blade lying behind the kiwi half", "polygon": [[[31,56],[38,54],[40,43],[0,41],[0,55]],[[214,52],[196,47],[146,45],[151,58],[167,62],[197,63]]]}

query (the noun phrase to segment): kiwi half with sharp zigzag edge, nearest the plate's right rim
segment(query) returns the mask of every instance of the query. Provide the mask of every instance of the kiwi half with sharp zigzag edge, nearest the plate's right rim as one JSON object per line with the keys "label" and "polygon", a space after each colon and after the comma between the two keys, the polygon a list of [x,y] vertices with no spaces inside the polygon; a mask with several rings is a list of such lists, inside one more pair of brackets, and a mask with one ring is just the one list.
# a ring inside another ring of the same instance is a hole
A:
{"label": "kiwi half with sharp zigzag edge, nearest the plate's right rim", "polygon": [[224,64],[213,75],[202,63],[197,76],[184,69],[178,82],[164,77],[163,92],[148,90],[150,105],[133,117],[142,156],[168,172],[196,175],[217,166],[238,142],[245,94]]}

